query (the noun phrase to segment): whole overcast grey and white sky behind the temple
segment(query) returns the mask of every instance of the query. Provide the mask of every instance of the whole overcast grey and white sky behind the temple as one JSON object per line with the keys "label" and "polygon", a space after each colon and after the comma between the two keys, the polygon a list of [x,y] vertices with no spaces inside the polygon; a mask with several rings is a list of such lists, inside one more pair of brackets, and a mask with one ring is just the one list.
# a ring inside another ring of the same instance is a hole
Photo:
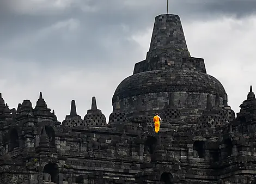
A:
{"label": "whole overcast grey and white sky behind the temple", "polygon": [[[170,0],[192,57],[228,93],[237,113],[256,89],[256,1]],[[0,92],[10,108],[39,92],[59,121],[76,100],[82,117],[92,96],[108,119],[117,85],[145,59],[165,0],[1,0]]]}

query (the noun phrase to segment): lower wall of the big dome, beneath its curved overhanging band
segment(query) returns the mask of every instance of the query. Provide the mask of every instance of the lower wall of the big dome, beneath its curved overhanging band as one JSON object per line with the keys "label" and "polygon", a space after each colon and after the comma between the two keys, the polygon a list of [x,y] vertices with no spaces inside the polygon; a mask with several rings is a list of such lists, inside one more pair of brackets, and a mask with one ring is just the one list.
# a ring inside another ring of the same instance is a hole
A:
{"label": "lower wall of the big dome, beneath its curved overhanging band", "polygon": [[[175,91],[174,94],[174,104],[180,109],[182,113],[182,119],[192,116],[199,116],[202,111],[206,109],[206,99],[208,93],[190,92],[190,91]],[[215,104],[215,95],[212,95],[212,104]],[[127,96],[120,99],[120,107],[122,111],[127,113],[127,116],[132,115],[138,111],[138,99],[141,99],[142,105],[139,105],[143,111],[151,117],[154,116],[156,112],[163,115],[164,108],[169,104],[169,93],[168,92],[158,92],[158,93],[147,93],[141,95]],[[223,97],[220,97],[221,103],[223,103]],[[155,107],[155,108],[152,108]],[[115,107],[114,107],[115,108]],[[188,112],[188,109],[193,109],[193,111]]]}

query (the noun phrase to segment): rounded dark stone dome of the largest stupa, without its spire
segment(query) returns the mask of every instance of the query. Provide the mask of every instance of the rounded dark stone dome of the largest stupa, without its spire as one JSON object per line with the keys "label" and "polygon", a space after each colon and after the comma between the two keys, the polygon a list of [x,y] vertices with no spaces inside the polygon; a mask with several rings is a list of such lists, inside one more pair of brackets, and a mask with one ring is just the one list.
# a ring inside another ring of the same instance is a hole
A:
{"label": "rounded dark stone dome of the largest stupa, without its spire", "polygon": [[218,94],[221,101],[225,95],[222,84],[205,73],[190,70],[154,70],[124,79],[115,90],[112,101],[114,104],[118,96],[121,110],[130,114],[137,109],[135,100],[141,97],[144,110],[153,115],[157,110],[162,111],[169,101],[170,91],[176,94],[175,106],[190,111],[205,109],[207,94]]}

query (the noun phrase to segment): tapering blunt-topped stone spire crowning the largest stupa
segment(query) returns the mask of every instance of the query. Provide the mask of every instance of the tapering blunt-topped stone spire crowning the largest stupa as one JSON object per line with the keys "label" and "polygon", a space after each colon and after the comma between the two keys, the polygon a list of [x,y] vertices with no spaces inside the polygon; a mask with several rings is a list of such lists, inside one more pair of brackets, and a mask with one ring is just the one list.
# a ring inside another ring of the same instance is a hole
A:
{"label": "tapering blunt-topped stone spire crowning the largest stupa", "polygon": [[154,57],[163,51],[169,54],[180,52],[182,56],[190,56],[178,15],[159,15],[155,19],[148,57]]}

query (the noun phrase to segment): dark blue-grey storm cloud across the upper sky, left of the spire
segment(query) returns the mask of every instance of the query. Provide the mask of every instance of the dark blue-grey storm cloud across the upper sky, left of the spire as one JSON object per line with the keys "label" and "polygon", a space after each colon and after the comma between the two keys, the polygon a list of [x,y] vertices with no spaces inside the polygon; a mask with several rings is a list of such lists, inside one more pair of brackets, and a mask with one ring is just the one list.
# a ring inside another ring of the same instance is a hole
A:
{"label": "dark blue-grey storm cloud across the upper sky, left of the spire", "polygon": [[[164,0],[35,2],[0,2],[2,56],[13,58],[15,54],[21,62],[35,60],[44,65],[76,63],[88,66],[92,61],[114,64],[121,58],[113,58],[113,53],[136,51],[137,44],[129,39],[130,36],[151,28],[154,17],[166,11]],[[246,0],[177,0],[169,4],[170,11],[179,14],[184,21],[193,16],[204,19],[204,14],[248,15],[256,6],[255,1]],[[65,22],[67,24],[62,27],[54,27]],[[45,29],[48,32],[44,33]]]}

